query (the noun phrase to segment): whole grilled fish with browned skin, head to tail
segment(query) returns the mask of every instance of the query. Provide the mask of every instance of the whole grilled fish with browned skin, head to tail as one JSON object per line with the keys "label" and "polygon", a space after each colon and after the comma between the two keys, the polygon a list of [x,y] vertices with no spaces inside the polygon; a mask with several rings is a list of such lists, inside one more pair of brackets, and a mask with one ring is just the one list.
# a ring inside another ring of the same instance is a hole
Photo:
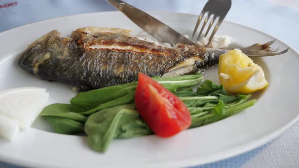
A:
{"label": "whole grilled fish with browned skin, head to tail", "polygon": [[[283,54],[270,50],[270,41],[243,50],[248,56]],[[148,76],[174,76],[198,71],[218,63],[228,50],[178,44],[167,48],[130,36],[118,28],[85,27],[71,37],[60,37],[57,30],[35,40],[19,59],[19,66],[49,81],[61,81],[88,91],[138,80]]]}

